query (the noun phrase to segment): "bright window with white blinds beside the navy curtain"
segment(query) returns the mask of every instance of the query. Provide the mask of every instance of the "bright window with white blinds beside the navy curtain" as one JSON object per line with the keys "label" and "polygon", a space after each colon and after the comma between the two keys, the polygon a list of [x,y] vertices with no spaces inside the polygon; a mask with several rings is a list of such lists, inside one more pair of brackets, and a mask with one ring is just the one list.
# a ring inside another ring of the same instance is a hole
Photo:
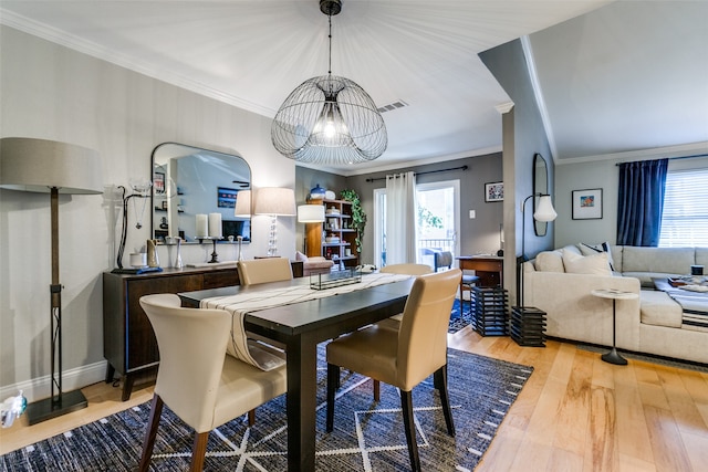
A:
{"label": "bright window with white blinds beside the navy curtain", "polygon": [[708,169],[667,174],[659,247],[708,247]]}

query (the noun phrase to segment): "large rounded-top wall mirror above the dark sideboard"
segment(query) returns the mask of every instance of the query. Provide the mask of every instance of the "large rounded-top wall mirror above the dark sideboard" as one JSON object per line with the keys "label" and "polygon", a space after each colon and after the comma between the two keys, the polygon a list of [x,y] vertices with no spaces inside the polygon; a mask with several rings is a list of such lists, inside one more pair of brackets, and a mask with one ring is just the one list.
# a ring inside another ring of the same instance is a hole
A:
{"label": "large rounded-top wall mirror above the dark sideboard", "polygon": [[199,242],[197,214],[219,213],[222,241],[239,235],[251,240],[251,219],[235,216],[239,192],[251,188],[251,168],[242,157],[164,143],[153,150],[152,160],[154,239]]}

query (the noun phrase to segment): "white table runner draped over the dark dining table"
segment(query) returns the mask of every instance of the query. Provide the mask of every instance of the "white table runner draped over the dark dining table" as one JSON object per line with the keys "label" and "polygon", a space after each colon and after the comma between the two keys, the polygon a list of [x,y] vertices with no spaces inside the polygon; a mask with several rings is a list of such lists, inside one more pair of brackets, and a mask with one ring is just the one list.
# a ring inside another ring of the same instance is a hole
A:
{"label": "white table runner draped over the dark dining table", "polygon": [[306,284],[258,292],[249,291],[236,295],[205,298],[199,306],[202,308],[226,310],[231,313],[231,343],[227,346],[227,353],[262,370],[271,370],[283,365],[285,359],[278,349],[248,338],[243,327],[243,317],[247,313],[356,292],[358,290],[399,282],[406,279],[410,279],[410,275],[387,273],[364,274],[362,275],[361,282],[350,285],[326,290],[313,290]]}

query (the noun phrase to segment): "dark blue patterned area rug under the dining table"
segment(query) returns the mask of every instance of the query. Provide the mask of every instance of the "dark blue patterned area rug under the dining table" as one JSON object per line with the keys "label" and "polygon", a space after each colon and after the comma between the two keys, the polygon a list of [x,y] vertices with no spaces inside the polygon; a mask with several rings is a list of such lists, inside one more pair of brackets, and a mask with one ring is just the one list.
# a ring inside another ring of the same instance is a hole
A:
{"label": "dark blue patterned area rug under the dining table", "polygon": [[[322,348],[320,349],[323,350]],[[316,469],[322,471],[409,470],[398,391],[382,384],[373,401],[371,381],[343,375],[335,408],[335,428],[325,432],[325,366],[321,354],[317,389]],[[457,430],[445,428],[433,379],[414,389],[415,419],[423,470],[470,471],[532,373],[531,367],[449,350],[448,381]],[[205,470],[287,470],[284,396],[257,410],[247,428],[236,419],[209,436]],[[149,402],[76,428],[0,458],[2,471],[132,471],[142,448]],[[152,470],[187,469],[192,432],[168,408],[163,412]]]}

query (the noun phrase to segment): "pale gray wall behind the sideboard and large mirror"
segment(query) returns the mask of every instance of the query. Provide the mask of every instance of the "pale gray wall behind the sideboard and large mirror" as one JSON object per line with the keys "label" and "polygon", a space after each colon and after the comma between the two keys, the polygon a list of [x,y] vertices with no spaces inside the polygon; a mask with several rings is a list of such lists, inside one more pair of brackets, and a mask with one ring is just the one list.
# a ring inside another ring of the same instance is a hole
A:
{"label": "pale gray wall behind the sideboard and large mirror", "polygon": [[[64,389],[101,381],[103,359],[102,272],[113,269],[121,231],[116,186],[150,176],[150,154],[165,141],[238,154],[250,165],[253,186],[294,187],[292,160],[270,140],[271,120],[192,92],[0,27],[0,133],[82,145],[103,164],[103,196],[60,198],[60,260]],[[135,199],[134,199],[135,200]],[[145,244],[147,224],[135,229],[131,208],[126,253]],[[144,222],[145,222],[144,221]],[[50,373],[49,196],[0,190],[0,398],[23,388],[49,397]],[[269,219],[253,218],[247,258],[266,254]],[[279,219],[279,249],[294,255],[294,218]],[[174,254],[159,248],[164,265]],[[184,248],[185,263],[208,260],[211,247]],[[221,260],[236,245],[219,245]],[[127,258],[126,258],[127,263]]]}

